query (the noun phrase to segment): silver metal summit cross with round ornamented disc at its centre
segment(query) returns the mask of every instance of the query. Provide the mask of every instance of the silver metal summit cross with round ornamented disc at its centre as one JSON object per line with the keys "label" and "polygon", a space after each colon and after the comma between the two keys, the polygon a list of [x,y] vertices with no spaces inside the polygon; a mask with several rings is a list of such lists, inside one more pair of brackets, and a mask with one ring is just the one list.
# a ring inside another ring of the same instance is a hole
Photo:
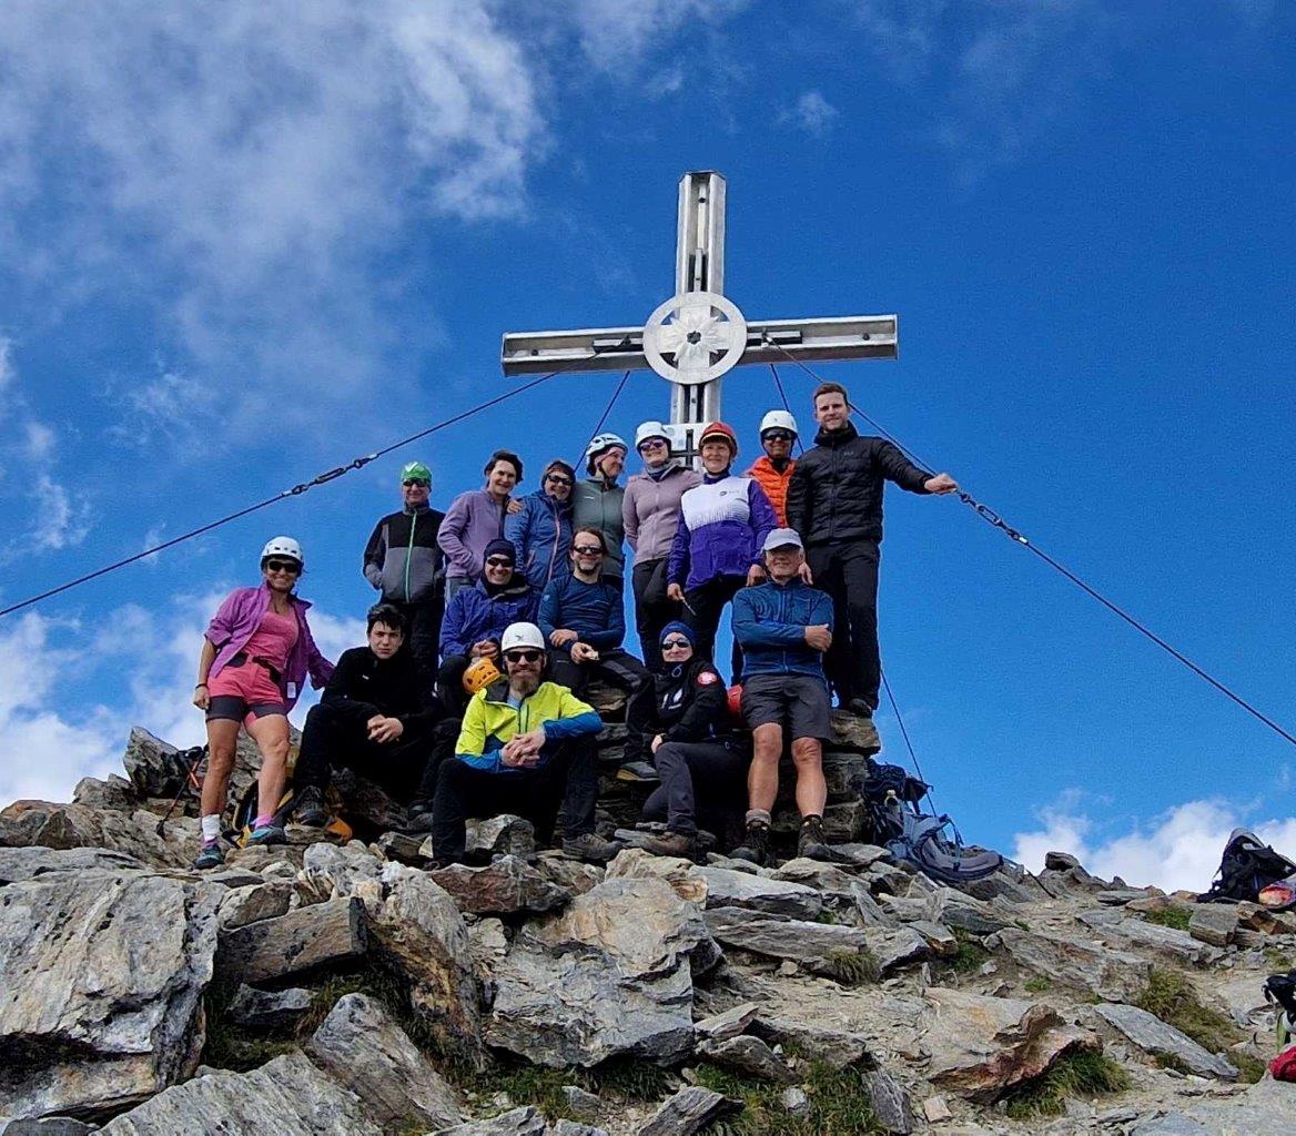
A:
{"label": "silver metal summit cross with round ornamented disc at its centre", "polygon": [[677,452],[696,457],[695,438],[721,417],[721,378],[744,363],[894,359],[896,316],[832,316],[748,323],[724,297],[724,177],[712,170],[679,183],[675,294],[642,328],[509,332],[507,376],[546,370],[651,367],[671,383]]}

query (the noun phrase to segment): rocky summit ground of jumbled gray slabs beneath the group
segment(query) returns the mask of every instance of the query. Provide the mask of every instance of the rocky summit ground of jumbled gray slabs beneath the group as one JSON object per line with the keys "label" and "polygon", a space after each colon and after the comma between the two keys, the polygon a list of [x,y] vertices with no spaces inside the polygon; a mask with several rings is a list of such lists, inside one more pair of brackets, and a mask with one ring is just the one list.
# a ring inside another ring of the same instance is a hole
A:
{"label": "rocky summit ground of jumbled gray slabs beneath the group", "polygon": [[[1261,1076],[1296,916],[1064,852],[936,883],[861,841],[876,736],[836,729],[833,863],[634,847],[651,786],[612,725],[607,867],[495,817],[435,870],[353,781],[354,839],[290,828],[205,874],[192,802],[158,829],[181,755],[136,731],[127,776],[0,812],[0,1132],[1296,1131]],[[254,776],[244,749],[235,791]]]}

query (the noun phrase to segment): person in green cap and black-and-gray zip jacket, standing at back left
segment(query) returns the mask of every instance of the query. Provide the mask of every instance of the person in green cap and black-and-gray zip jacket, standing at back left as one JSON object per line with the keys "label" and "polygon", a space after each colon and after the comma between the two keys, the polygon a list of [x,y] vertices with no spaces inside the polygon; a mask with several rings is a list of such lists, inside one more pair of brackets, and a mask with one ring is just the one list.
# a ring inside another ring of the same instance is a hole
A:
{"label": "person in green cap and black-and-gray zip jacket, standing at back left", "polygon": [[433,509],[432,470],[411,461],[400,470],[403,508],[373,526],[364,547],[364,578],[406,618],[407,650],[429,674],[437,668],[446,611],[445,553],[437,534],[446,514]]}

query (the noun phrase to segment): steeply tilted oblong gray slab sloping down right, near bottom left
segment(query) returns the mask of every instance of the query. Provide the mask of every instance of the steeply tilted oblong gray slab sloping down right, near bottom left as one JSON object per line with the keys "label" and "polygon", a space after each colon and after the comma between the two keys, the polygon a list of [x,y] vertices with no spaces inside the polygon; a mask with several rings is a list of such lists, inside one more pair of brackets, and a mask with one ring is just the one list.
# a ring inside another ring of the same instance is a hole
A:
{"label": "steeply tilted oblong gray slab sloping down right, near bottom left", "polygon": [[338,999],[303,1048],[388,1130],[447,1127],[463,1119],[459,1095],[372,997]]}

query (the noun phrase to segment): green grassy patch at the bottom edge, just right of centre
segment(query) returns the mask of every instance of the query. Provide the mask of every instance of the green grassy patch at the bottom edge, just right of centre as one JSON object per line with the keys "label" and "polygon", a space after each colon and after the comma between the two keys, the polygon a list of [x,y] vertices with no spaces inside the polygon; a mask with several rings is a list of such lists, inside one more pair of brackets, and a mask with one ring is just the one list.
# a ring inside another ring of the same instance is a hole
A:
{"label": "green grassy patch at the bottom edge, just right of centre", "polygon": [[710,1062],[697,1066],[697,1083],[743,1101],[743,1111],[718,1120],[709,1136],[879,1136],[868,1089],[858,1069],[810,1063],[805,1084],[807,1117],[789,1117],[779,1097],[784,1087],[741,1076]]}

